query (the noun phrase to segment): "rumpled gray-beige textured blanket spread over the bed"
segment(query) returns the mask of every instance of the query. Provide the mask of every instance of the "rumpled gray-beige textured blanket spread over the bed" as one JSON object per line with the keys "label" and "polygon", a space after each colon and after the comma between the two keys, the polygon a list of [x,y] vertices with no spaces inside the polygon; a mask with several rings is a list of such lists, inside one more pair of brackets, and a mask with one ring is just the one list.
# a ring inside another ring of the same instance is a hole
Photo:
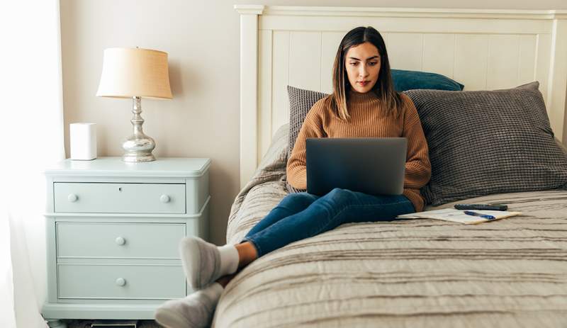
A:
{"label": "rumpled gray-beige textured blanket spread over the bed", "polygon": [[[232,205],[228,242],[287,194],[286,147],[284,126]],[[567,191],[459,203],[523,215],[347,224],[288,244],[237,274],[213,327],[567,327]]]}

